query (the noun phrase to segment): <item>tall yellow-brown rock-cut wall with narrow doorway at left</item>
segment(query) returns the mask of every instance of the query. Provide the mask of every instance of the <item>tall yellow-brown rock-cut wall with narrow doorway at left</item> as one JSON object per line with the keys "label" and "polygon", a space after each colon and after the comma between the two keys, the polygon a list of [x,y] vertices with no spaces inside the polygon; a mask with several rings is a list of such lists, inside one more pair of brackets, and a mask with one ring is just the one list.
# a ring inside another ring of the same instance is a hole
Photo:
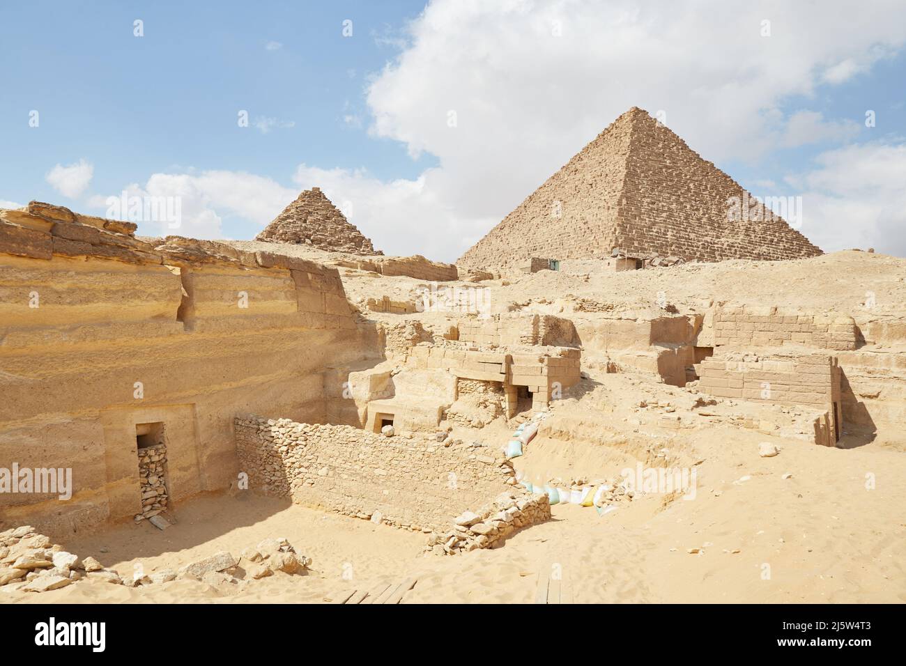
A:
{"label": "tall yellow-brown rock-cut wall with narrow doorway at left", "polygon": [[236,413],[323,420],[326,365],[379,352],[335,268],[134,228],[40,203],[0,212],[0,460],[71,468],[73,486],[68,501],[3,494],[0,528],[141,513],[148,424],[165,432],[169,507],[228,487]]}

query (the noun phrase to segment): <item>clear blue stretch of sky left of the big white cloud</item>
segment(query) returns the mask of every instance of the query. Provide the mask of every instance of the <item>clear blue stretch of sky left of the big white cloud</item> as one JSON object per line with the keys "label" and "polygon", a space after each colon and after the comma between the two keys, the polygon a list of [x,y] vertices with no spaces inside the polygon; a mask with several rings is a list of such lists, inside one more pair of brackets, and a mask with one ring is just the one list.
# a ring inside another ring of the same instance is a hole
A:
{"label": "clear blue stretch of sky left of the big white cloud", "polygon": [[[300,161],[415,176],[429,156],[410,159],[400,142],[369,140],[343,117],[364,113],[366,77],[395,54],[384,40],[423,6],[5,4],[0,198],[59,200],[45,173],[82,158],[102,192],[187,168],[288,181]],[[342,21],[351,16],[352,38],[344,38]],[[31,110],[40,112],[37,130],[28,126]],[[237,126],[241,110],[253,127]],[[263,133],[254,128],[260,118],[294,125]]]}

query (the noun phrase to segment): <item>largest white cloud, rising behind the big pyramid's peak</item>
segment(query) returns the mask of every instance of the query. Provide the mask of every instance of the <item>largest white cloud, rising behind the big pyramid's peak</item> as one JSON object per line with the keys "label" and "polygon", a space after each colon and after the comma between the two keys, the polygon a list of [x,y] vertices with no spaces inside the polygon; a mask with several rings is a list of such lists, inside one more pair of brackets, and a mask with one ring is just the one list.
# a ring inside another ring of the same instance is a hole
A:
{"label": "largest white cloud, rising behind the big pyramid's peak", "polygon": [[[439,159],[419,179],[438,209],[419,223],[445,236],[436,258],[452,260],[633,105],[666,111],[670,128],[718,163],[852,137],[849,122],[784,106],[901,47],[906,5],[883,5],[875,14],[844,2],[435,0],[373,77],[370,131]],[[765,16],[771,37],[759,34]],[[448,211],[451,230],[437,221]],[[397,242],[407,243],[381,245]]]}

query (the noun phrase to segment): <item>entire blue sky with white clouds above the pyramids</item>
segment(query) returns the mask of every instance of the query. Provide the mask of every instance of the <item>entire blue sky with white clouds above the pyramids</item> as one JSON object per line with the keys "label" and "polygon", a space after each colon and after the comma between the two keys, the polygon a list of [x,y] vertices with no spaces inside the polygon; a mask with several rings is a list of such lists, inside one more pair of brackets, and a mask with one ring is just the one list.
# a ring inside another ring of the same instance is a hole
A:
{"label": "entire blue sky with white clouds above the pyramids", "polygon": [[388,253],[454,260],[638,105],[802,197],[824,249],[906,255],[903,8],[705,5],[5,4],[0,205],[178,194],[178,233],[250,238],[320,185]]}

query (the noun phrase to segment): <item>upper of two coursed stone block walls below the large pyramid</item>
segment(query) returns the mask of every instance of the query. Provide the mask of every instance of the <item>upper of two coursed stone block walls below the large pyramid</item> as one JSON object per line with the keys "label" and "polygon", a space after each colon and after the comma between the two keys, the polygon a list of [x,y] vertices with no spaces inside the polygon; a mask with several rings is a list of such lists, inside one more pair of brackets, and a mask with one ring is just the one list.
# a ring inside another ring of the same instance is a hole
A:
{"label": "upper of two coursed stone block walls below the large pyramid", "polygon": [[853,350],[858,344],[855,321],[846,315],[807,314],[778,307],[718,307],[712,325],[714,346],[750,348],[797,344]]}

